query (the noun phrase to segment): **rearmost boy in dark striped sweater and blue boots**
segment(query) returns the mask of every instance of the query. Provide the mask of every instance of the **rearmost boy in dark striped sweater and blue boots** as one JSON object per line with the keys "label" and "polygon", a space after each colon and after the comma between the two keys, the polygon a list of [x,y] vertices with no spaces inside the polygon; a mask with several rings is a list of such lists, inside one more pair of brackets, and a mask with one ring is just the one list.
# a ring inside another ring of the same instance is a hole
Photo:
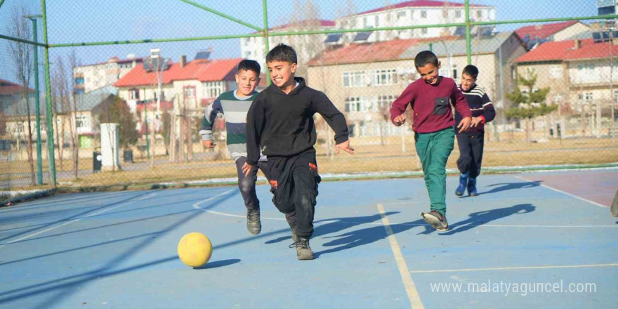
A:
{"label": "rearmost boy in dark striped sweater and blue boots", "polygon": [[[457,133],[457,145],[459,145],[459,186],[455,195],[461,196],[468,189],[468,195],[478,195],[476,191],[476,178],[480,174],[482,162],[483,138],[485,136],[484,124],[496,117],[496,110],[487,93],[475,84],[478,77],[478,69],[474,65],[468,65],[461,72],[461,85],[459,88],[466,96],[468,107],[472,112],[472,124],[468,131]],[[455,123],[459,124],[461,114],[455,112]]]}

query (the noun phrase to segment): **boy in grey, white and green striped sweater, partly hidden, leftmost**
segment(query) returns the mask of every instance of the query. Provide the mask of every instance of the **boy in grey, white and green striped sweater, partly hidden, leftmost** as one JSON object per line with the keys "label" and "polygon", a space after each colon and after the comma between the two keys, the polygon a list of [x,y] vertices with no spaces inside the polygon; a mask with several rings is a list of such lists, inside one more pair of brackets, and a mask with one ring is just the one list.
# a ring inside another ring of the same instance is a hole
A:
{"label": "boy in grey, white and green striped sweater, partly hidden, leftmost", "polygon": [[213,124],[218,113],[225,117],[225,130],[228,132],[227,144],[230,155],[236,163],[238,173],[238,188],[246,206],[246,229],[257,235],[262,230],[260,222],[260,201],[256,195],[256,181],[258,169],[261,169],[266,178],[269,178],[265,169],[266,158],[261,157],[258,164],[253,166],[248,176],[242,171],[246,163],[246,112],[254,98],[258,96],[256,86],[260,84],[260,65],[255,60],[242,60],[236,69],[235,91],[221,93],[221,96],[208,107],[202,119],[202,134],[204,147],[214,147],[212,143]]}

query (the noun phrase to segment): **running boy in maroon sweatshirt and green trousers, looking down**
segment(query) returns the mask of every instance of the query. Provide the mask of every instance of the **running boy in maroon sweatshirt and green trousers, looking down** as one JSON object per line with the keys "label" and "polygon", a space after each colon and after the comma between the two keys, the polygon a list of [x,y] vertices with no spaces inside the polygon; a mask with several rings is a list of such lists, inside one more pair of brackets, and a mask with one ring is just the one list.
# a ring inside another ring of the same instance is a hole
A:
{"label": "running boy in maroon sweatshirt and green trousers, looking down", "polygon": [[395,126],[405,123],[404,112],[411,105],[414,117],[412,129],[416,153],[423,164],[425,185],[429,192],[430,211],[421,217],[439,231],[449,229],[446,211],[447,159],[455,141],[455,120],[453,105],[463,119],[456,130],[466,131],[472,121],[466,98],[455,81],[441,77],[440,61],[434,53],[421,51],[414,58],[416,70],[421,78],[407,86],[390,108],[390,120]]}

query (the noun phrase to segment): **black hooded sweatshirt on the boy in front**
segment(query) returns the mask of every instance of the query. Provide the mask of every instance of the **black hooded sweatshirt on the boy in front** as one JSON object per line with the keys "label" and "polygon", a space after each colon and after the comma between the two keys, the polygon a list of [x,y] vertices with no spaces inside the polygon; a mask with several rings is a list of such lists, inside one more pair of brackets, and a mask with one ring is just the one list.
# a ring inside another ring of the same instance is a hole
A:
{"label": "black hooded sweatshirt on the boy in front", "polygon": [[324,117],[335,131],[335,143],[348,140],[346,118],[329,98],[295,77],[298,86],[289,94],[271,84],[258,94],[247,113],[246,162],[256,165],[263,155],[287,157],[313,148],[317,139],[313,115]]}

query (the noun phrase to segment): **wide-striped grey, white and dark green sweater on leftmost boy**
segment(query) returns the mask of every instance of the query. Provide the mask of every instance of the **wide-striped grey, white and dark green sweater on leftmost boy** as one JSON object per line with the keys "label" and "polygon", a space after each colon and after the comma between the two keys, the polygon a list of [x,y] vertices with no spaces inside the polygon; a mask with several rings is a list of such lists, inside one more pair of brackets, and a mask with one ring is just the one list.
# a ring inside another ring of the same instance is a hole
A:
{"label": "wide-striped grey, white and dark green sweater on leftmost boy", "polygon": [[206,114],[202,119],[199,134],[202,140],[211,140],[213,124],[217,114],[221,112],[225,117],[225,130],[228,131],[228,150],[236,161],[239,157],[246,157],[246,112],[251,102],[258,95],[257,92],[246,98],[236,96],[236,91],[221,93],[211,105],[206,107]]}

